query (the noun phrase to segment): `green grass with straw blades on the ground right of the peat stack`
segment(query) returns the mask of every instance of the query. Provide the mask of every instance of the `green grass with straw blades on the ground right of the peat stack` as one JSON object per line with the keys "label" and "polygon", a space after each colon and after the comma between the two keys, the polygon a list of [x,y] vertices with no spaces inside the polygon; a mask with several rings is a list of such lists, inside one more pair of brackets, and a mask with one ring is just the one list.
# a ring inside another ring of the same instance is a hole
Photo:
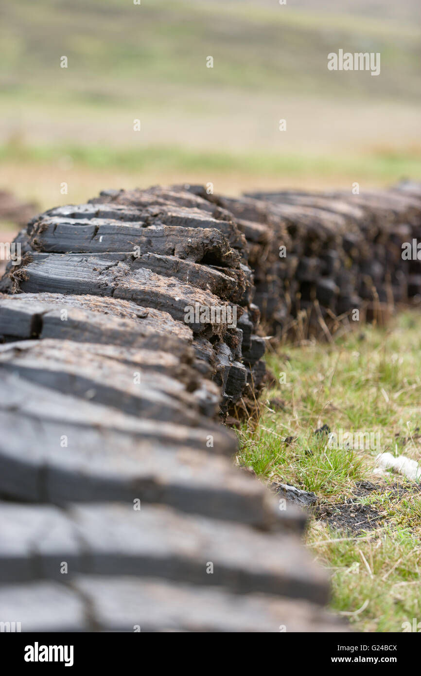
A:
{"label": "green grass with straw blades on the ground right of the peat stack", "polygon": [[[372,504],[382,527],[351,537],[313,518],[307,533],[307,546],[332,573],[332,610],[357,631],[402,631],[403,622],[421,621],[421,493],[399,475],[374,477],[377,450],[330,449],[314,431],[326,424],[337,433],[380,432],[380,452],[420,462],[420,348],[415,312],[387,330],[360,327],[332,344],[284,345],[267,361],[286,382],[264,394],[259,423],[239,431],[241,464],[316,492],[320,504],[341,504],[355,495],[357,481],[376,483],[368,497],[353,500]],[[283,410],[271,408],[274,397]],[[286,437],[294,439],[287,444]],[[391,487],[396,482],[407,489],[401,497]]]}

